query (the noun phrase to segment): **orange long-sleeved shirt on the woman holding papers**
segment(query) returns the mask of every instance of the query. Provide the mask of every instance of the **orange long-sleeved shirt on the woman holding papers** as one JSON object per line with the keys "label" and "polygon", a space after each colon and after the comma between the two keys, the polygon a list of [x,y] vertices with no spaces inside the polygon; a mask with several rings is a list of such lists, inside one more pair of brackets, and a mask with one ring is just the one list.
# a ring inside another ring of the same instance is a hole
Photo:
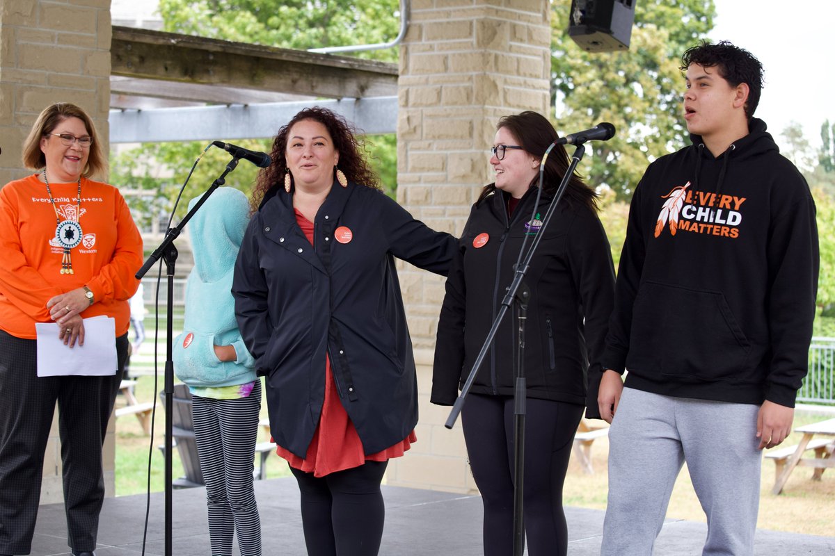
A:
{"label": "orange long-sleeved shirt on the woman holding papers", "polygon": [[70,249],[73,274],[61,273],[63,248],[55,244],[55,210],[38,174],[0,189],[0,328],[17,338],[34,339],[35,323],[51,323],[50,298],[87,285],[96,303],[83,318],[107,315],[116,335],[128,331],[128,299],[139,287],[134,274],[142,266],[142,237],[124,198],[107,183],[81,178],[50,183],[61,220],[82,228],[81,242]]}

